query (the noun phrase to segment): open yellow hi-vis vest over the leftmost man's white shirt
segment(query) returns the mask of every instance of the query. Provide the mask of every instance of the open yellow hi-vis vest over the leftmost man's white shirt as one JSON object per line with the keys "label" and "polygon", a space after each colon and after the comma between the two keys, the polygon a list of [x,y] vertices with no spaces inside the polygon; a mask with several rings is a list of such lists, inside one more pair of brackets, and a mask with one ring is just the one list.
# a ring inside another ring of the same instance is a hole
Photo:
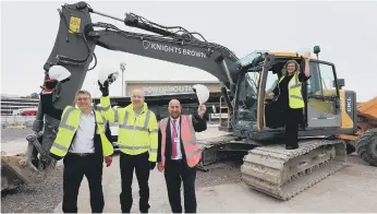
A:
{"label": "open yellow hi-vis vest over the leftmost man's white shirt", "polygon": [[[110,141],[105,135],[105,120],[101,115],[95,110],[97,122],[97,134],[99,134],[102,144],[102,155],[109,156],[113,154],[113,147]],[[80,124],[80,109],[68,106],[64,108],[59,124],[59,131],[54,142],[50,148],[50,153],[64,157],[71,146],[73,136],[76,133]]]}

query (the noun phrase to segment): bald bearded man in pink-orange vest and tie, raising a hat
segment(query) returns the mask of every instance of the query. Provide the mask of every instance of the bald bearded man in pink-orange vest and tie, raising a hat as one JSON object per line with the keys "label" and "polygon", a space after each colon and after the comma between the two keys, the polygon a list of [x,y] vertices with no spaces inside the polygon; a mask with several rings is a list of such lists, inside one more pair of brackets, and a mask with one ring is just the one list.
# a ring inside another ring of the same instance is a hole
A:
{"label": "bald bearded man in pink-orange vest and tie, raising a hat", "polygon": [[169,103],[170,117],[163,118],[158,133],[158,170],[165,170],[169,203],[173,213],[182,213],[181,183],[183,181],[184,212],[196,213],[195,166],[200,159],[200,151],[195,132],[207,129],[204,119],[206,106],[200,105],[197,115],[181,115],[181,104],[177,99]]}

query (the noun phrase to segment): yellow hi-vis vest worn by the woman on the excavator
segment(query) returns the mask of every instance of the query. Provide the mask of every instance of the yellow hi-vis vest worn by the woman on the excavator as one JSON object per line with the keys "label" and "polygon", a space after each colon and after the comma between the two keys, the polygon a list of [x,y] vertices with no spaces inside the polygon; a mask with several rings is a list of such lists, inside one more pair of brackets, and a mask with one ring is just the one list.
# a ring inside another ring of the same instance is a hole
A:
{"label": "yellow hi-vis vest worn by the woman on the excavator", "polygon": [[[281,76],[279,83],[284,80],[285,75]],[[278,85],[279,85],[278,83]],[[301,94],[302,83],[299,81],[297,72],[293,74],[292,79],[288,83],[288,96],[289,105],[291,108],[304,108],[304,99]],[[280,87],[279,87],[280,91]]]}

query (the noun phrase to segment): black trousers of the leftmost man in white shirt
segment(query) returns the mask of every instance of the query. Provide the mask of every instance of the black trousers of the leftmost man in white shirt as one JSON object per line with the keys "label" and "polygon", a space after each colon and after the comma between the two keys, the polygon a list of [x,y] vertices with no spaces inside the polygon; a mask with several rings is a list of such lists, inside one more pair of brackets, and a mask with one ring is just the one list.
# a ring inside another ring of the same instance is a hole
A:
{"label": "black trousers of the leftmost man in white shirt", "polygon": [[84,175],[89,183],[92,212],[102,213],[105,206],[102,191],[104,157],[97,154],[78,156],[68,153],[63,163],[63,213],[77,213],[78,189]]}

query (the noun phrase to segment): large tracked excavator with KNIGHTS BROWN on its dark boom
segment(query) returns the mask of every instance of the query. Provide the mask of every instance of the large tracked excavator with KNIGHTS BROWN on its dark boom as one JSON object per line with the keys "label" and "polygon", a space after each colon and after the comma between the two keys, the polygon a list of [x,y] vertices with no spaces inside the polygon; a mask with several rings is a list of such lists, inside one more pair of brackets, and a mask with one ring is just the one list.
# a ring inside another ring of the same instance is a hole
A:
{"label": "large tracked excavator with KNIGHTS BROWN on its dark boom", "polygon": [[[218,79],[231,128],[223,135],[199,142],[203,157],[198,168],[205,170],[233,153],[241,153],[244,183],[272,198],[289,200],[346,164],[345,142],[337,134],[357,132],[356,94],[340,90],[344,80],[338,79],[333,63],[319,60],[319,46],[314,48],[316,56],[255,50],[238,58],[227,47],[208,41],[199,33],[181,26],[163,26],[134,13],[125,13],[124,19],[115,17],[83,1],[64,4],[58,11],[60,26],[44,66],[45,80],[53,67],[65,68],[71,76],[69,81],[59,82],[52,92],[56,108],[74,105],[76,91],[97,64],[95,48],[99,46],[197,68]],[[93,23],[92,14],[147,33]],[[311,78],[302,87],[305,119],[300,124],[300,147],[285,150],[281,141],[284,127],[279,119],[280,109],[273,105],[276,97],[268,98],[266,94],[282,75],[283,64],[292,59],[301,64],[301,72],[305,59],[309,59]],[[89,68],[92,62],[94,66]],[[48,177],[56,166],[48,151],[59,122],[38,108],[33,133],[26,138],[26,152],[1,156],[2,189],[40,182]]]}

